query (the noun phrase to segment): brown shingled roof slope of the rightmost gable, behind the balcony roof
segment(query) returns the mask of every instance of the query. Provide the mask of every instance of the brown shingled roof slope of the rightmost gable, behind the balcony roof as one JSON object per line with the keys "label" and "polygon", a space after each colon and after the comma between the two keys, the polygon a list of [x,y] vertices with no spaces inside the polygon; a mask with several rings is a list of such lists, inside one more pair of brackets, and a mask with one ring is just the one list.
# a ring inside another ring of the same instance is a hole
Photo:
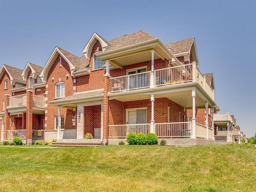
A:
{"label": "brown shingled roof slope of the rightmost gable, behind the balcony roof", "polygon": [[189,52],[194,41],[195,38],[188,38],[166,44],[166,47],[172,49],[174,54]]}

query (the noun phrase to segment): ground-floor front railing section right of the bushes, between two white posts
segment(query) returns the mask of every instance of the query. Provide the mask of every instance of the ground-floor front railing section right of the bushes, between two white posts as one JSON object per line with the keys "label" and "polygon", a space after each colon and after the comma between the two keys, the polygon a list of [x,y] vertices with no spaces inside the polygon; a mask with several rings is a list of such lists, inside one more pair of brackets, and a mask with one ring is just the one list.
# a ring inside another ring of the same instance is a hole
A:
{"label": "ground-floor front railing section right of the bushes, between two white posts", "polygon": [[156,123],[155,133],[158,137],[190,138],[191,123],[190,122]]}

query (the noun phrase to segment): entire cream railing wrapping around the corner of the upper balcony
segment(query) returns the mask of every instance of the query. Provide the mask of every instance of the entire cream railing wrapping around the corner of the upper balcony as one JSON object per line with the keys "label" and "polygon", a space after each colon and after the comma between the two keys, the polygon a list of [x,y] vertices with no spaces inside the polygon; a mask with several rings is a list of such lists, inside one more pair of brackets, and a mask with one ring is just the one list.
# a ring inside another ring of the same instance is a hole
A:
{"label": "entire cream railing wrapping around the corner of the upper balcony", "polygon": [[206,81],[205,76],[196,66],[196,62],[154,70],[137,74],[110,78],[110,93],[142,90],[157,87],[174,87],[198,83],[199,86],[214,100],[214,90]]}

